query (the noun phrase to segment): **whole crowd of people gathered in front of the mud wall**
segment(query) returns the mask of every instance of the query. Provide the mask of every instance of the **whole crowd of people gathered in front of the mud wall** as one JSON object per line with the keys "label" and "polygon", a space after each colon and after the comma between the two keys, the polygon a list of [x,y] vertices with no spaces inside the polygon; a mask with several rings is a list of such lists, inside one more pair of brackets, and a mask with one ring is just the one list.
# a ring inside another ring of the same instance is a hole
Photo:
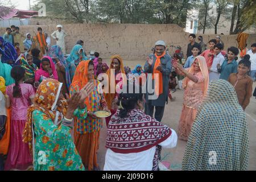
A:
{"label": "whole crowd of people gathered in front of the mud wall", "polygon": [[[23,38],[15,26],[0,37],[1,170],[100,170],[104,119],[95,112],[102,110],[111,114],[105,118],[104,170],[158,171],[162,147],[174,148],[177,139],[188,142],[184,170],[247,169],[245,109],[255,81],[256,43],[246,53],[237,47],[225,52],[220,36],[207,49],[202,36],[196,43],[191,34],[183,65],[159,40],[144,67],[131,69],[119,55],[109,65],[98,52],[87,56],[82,40],[66,55],[67,34],[56,28],[53,46],[40,27],[33,38]],[[174,101],[178,75],[184,100],[176,134],[162,118],[168,98]],[[144,93],[149,81],[152,92]],[[218,155],[214,165],[212,151]]]}

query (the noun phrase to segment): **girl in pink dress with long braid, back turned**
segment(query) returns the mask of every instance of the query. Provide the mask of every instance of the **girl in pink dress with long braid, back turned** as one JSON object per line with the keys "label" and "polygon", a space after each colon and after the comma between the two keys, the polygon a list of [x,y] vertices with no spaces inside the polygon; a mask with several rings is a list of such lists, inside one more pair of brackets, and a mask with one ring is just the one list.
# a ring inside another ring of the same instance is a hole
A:
{"label": "girl in pink dress with long braid, back turned", "polygon": [[6,88],[6,107],[11,107],[11,138],[5,171],[27,170],[32,167],[32,159],[27,143],[22,141],[22,134],[27,122],[27,110],[31,105],[35,92],[30,84],[23,84],[24,68],[15,66],[11,69],[11,77],[15,84]]}

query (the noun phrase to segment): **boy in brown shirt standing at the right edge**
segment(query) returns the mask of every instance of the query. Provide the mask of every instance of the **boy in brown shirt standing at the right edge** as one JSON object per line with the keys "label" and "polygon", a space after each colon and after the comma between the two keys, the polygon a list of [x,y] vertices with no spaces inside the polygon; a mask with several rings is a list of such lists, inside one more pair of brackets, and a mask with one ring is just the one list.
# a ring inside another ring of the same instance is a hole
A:
{"label": "boy in brown shirt standing at the right edge", "polygon": [[247,75],[250,67],[250,60],[242,59],[238,64],[237,73],[232,73],[228,78],[228,81],[236,90],[238,102],[243,110],[249,105],[251,92],[253,92],[253,80]]}

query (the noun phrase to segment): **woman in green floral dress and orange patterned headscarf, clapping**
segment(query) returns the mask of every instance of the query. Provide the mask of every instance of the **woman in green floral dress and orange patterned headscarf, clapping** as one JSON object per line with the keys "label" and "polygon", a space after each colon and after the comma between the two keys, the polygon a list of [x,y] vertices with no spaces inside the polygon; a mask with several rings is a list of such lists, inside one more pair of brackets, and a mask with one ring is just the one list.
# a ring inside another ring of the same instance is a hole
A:
{"label": "woman in green floral dress and orange patterned headscarf, clapping", "polygon": [[86,106],[80,110],[77,107],[92,90],[86,85],[67,101],[61,88],[62,83],[57,80],[44,80],[36,92],[34,104],[28,108],[23,142],[30,147],[35,171],[84,170],[71,130],[73,113],[86,118]]}

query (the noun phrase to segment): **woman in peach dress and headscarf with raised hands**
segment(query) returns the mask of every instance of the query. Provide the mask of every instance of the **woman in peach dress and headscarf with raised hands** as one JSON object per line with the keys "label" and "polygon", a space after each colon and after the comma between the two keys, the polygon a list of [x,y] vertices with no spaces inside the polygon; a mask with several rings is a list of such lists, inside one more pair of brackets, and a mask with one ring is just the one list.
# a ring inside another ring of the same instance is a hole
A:
{"label": "woman in peach dress and headscarf with raised hands", "polygon": [[183,80],[184,102],[178,126],[178,136],[180,140],[187,141],[196,118],[197,109],[207,93],[209,73],[203,56],[197,56],[191,68],[183,68],[183,65],[177,61],[173,66],[176,68],[177,74],[186,76]]}

